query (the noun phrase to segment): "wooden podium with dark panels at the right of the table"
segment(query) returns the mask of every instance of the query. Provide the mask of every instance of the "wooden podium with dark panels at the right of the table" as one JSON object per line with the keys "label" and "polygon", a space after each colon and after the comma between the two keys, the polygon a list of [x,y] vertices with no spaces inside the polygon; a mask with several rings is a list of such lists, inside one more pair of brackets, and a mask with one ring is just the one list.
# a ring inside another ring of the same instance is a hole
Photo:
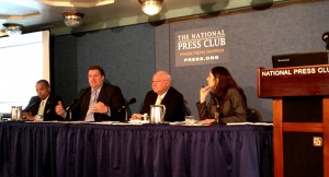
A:
{"label": "wooden podium with dark panels at the right of the table", "polygon": [[272,98],[275,177],[329,177],[329,64],[257,70]]}

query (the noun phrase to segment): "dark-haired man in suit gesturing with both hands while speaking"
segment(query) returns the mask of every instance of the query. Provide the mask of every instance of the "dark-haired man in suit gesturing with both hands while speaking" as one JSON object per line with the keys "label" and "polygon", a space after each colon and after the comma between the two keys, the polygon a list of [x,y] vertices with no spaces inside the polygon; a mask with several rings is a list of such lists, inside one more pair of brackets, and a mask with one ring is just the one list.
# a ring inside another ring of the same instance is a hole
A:
{"label": "dark-haired man in suit gesturing with both hands while speaking", "polygon": [[[121,121],[124,120],[125,99],[121,88],[104,83],[105,72],[100,66],[88,69],[89,87],[79,92],[78,102],[71,107],[71,120]],[[57,115],[67,117],[61,102],[56,106]]]}

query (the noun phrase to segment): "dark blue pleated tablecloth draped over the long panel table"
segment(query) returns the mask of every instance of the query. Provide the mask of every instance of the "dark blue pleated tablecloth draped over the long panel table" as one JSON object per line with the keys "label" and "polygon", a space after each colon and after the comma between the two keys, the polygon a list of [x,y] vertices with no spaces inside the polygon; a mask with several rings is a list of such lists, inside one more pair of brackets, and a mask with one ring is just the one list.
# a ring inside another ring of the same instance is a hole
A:
{"label": "dark blue pleated tablecloth draped over the long panel table", "polygon": [[2,177],[272,177],[272,126],[0,122]]}

